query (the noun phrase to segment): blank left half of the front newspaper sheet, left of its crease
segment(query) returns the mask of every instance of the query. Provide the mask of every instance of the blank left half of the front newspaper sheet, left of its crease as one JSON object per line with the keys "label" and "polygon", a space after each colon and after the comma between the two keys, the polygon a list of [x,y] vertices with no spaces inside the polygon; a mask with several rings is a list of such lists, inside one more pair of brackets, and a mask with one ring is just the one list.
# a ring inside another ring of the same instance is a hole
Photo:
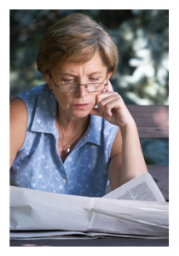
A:
{"label": "blank left half of the front newspaper sheet, left of its crease", "polygon": [[90,197],[10,186],[10,230],[88,229]]}

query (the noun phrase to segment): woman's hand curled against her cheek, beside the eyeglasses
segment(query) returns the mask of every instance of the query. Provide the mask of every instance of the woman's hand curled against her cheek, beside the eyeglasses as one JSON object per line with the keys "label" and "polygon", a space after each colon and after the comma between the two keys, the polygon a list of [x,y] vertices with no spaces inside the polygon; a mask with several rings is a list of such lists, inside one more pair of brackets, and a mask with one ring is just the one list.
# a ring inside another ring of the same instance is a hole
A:
{"label": "woman's hand curled against her cheek, beside the eyeglasses", "polygon": [[107,89],[104,89],[96,96],[96,105],[90,114],[99,115],[113,125],[125,128],[129,124],[134,124],[129,110],[126,108],[124,101],[117,92],[113,91],[112,84],[108,81]]}

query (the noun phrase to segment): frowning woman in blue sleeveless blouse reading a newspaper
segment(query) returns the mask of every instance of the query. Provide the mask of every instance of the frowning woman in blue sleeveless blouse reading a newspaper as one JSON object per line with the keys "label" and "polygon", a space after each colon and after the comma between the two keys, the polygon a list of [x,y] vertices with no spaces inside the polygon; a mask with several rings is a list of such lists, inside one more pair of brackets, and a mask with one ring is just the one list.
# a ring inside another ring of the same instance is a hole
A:
{"label": "frowning woman in blue sleeveless blouse reading a newspaper", "polygon": [[89,16],[49,29],[38,49],[47,84],[11,101],[11,184],[103,196],[107,177],[116,189],[147,172],[135,121],[109,82],[117,64],[113,39]]}

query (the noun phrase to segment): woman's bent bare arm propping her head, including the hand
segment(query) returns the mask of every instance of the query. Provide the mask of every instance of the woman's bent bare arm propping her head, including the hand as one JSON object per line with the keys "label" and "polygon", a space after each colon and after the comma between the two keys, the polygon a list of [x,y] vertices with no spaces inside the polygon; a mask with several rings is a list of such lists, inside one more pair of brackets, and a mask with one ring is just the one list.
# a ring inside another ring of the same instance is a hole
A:
{"label": "woman's bent bare arm propping her head, including the hand", "polygon": [[113,142],[108,176],[112,189],[130,181],[130,179],[147,172],[147,166],[141,152],[136,123],[124,101],[118,93],[109,90],[97,96],[98,108],[91,113],[100,115],[113,125],[118,125]]}

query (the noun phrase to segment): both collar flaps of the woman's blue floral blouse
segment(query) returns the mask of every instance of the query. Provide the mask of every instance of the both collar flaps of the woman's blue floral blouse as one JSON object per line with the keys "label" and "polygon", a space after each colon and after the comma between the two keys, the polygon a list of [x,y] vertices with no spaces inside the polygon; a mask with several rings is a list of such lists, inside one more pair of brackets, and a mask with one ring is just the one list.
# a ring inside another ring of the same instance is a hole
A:
{"label": "both collar flaps of the woman's blue floral blouse", "polygon": [[[58,131],[55,125],[56,104],[55,95],[51,93],[49,85],[44,84],[38,96],[31,131],[51,133],[58,138]],[[76,146],[82,146],[87,142],[103,146],[101,133],[103,125],[104,119],[100,116],[90,115],[90,125]]]}

